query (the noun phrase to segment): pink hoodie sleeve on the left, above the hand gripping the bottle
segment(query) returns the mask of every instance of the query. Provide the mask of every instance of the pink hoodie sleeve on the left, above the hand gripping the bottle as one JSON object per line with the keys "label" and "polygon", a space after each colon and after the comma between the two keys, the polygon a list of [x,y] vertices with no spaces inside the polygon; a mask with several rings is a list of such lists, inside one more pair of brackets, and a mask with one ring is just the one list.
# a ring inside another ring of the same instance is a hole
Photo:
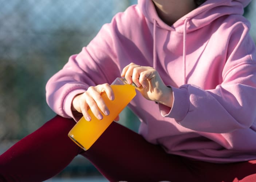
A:
{"label": "pink hoodie sleeve on the left, above the hand gripping the bottle", "polygon": [[88,46],[72,55],[62,70],[48,80],[46,100],[56,114],[78,120],[71,111],[74,96],[85,92],[89,86],[110,84],[120,76],[113,41],[118,34],[116,24],[114,17],[110,24],[103,25]]}

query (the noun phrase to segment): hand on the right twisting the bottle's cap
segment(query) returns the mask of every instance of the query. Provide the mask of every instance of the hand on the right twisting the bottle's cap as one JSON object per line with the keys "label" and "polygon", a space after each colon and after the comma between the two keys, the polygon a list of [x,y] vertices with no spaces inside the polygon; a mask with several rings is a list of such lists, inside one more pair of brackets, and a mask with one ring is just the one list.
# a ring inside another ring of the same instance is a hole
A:
{"label": "hand on the right twisting the bottle's cap", "polygon": [[124,76],[129,84],[134,82],[146,99],[172,107],[172,88],[165,85],[154,68],[130,63],[123,68],[121,76]]}

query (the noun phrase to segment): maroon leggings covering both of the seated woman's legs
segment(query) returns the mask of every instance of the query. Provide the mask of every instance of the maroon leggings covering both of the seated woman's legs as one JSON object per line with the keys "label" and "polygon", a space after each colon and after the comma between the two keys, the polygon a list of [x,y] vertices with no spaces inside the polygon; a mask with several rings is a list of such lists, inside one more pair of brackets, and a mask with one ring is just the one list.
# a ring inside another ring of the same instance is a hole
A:
{"label": "maroon leggings covering both of the seated woman's legs", "polygon": [[72,119],[56,116],[0,156],[0,181],[44,181],[83,155],[109,181],[256,181],[256,160],[214,164],[166,154],[158,145],[113,122],[87,151],[68,137]]}

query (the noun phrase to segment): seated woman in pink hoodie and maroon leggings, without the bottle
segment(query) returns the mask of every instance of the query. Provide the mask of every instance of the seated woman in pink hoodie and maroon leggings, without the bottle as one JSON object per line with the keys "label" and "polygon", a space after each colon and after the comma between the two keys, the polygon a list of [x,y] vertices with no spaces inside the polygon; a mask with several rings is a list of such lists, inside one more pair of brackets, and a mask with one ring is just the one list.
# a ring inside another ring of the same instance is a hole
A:
{"label": "seated woman in pink hoodie and maroon leggings, without the bottle", "polygon": [[[110,181],[255,181],[249,2],[139,0],[118,13],[48,81],[47,103],[60,116],[1,155],[1,177],[45,180],[81,154]],[[119,76],[140,87],[130,103],[139,134],[112,123],[82,151],[67,133],[82,114],[91,119],[88,108],[109,114],[100,95],[114,99],[109,84]]]}

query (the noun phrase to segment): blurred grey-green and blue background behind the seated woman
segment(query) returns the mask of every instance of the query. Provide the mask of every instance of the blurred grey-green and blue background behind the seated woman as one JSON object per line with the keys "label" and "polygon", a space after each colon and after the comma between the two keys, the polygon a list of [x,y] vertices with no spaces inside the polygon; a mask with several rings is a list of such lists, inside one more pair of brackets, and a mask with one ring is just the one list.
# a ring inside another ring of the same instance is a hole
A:
{"label": "blurred grey-green and blue background behind the seated woman", "polygon": [[[0,154],[55,116],[47,106],[45,85],[72,54],[103,24],[137,0],[0,0]],[[245,8],[256,40],[256,0]],[[126,108],[121,124],[138,131]],[[105,181],[83,157],[76,157],[55,178]],[[73,181],[72,180],[72,181]]]}

